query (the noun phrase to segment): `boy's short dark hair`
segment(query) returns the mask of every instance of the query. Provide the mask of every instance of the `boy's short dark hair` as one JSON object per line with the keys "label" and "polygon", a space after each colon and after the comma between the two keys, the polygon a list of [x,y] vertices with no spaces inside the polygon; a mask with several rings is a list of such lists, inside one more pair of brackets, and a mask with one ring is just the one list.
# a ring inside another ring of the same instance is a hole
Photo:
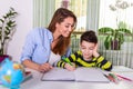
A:
{"label": "boy's short dark hair", "polygon": [[98,37],[96,37],[95,32],[92,31],[92,30],[85,31],[85,32],[81,36],[80,43],[82,43],[83,40],[84,40],[84,41],[88,41],[88,42],[98,43]]}

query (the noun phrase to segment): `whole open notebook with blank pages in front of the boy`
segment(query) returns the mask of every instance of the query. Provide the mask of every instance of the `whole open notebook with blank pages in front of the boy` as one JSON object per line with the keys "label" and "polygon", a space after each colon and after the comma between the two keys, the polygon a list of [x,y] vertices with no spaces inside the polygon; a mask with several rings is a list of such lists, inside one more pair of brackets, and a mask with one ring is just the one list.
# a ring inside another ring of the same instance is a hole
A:
{"label": "whole open notebook with blank pages in front of the boy", "polygon": [[53,68],[49,72],[43,73],[41,80],[109,82],[102,71],[95,68],[76,68],[74,71]]}

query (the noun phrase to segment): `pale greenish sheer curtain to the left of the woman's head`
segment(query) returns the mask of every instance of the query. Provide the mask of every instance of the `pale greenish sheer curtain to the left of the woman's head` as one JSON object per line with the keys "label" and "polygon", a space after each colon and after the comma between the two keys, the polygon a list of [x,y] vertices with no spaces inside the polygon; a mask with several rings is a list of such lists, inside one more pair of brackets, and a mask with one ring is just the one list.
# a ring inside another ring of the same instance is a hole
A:
{"label": "pale greenish sheer curtain to the left of the woman's head", "polygon": [[55,10],[55,0],[33,0],[33,27],[48,27]]}

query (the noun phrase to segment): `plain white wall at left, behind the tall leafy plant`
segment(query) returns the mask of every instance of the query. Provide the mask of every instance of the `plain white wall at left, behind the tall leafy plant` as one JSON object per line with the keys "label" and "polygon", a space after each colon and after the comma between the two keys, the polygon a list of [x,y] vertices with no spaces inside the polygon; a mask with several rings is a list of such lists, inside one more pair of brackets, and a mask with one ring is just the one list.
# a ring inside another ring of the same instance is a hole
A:
{"label": "plain white wall at left, behind the tall leafy plant", "polygon": [[20,61],[22,46],[24,44],[27,33],[32,29],[32,11],[33,0],[0,0],[0,17],[4,14],[10,7],[19,13],[17,17],[17,31],[12,40],[9,42],[7,53],[13,60]]}

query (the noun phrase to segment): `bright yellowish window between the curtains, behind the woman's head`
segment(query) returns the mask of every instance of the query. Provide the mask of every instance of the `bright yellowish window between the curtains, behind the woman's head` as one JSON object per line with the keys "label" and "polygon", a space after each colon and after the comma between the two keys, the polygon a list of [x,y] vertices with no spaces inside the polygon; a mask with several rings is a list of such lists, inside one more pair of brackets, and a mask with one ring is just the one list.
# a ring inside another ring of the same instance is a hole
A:
{"label": "bright yellowish window between the curtains, behind the woman's head", "polygon": [[78,24],[71,38],[72,52],[79,50],[80,36],[86,29],[86,3],[88,0],[55,0],[55,9],[63,7],[72,10],[76,18]]}

